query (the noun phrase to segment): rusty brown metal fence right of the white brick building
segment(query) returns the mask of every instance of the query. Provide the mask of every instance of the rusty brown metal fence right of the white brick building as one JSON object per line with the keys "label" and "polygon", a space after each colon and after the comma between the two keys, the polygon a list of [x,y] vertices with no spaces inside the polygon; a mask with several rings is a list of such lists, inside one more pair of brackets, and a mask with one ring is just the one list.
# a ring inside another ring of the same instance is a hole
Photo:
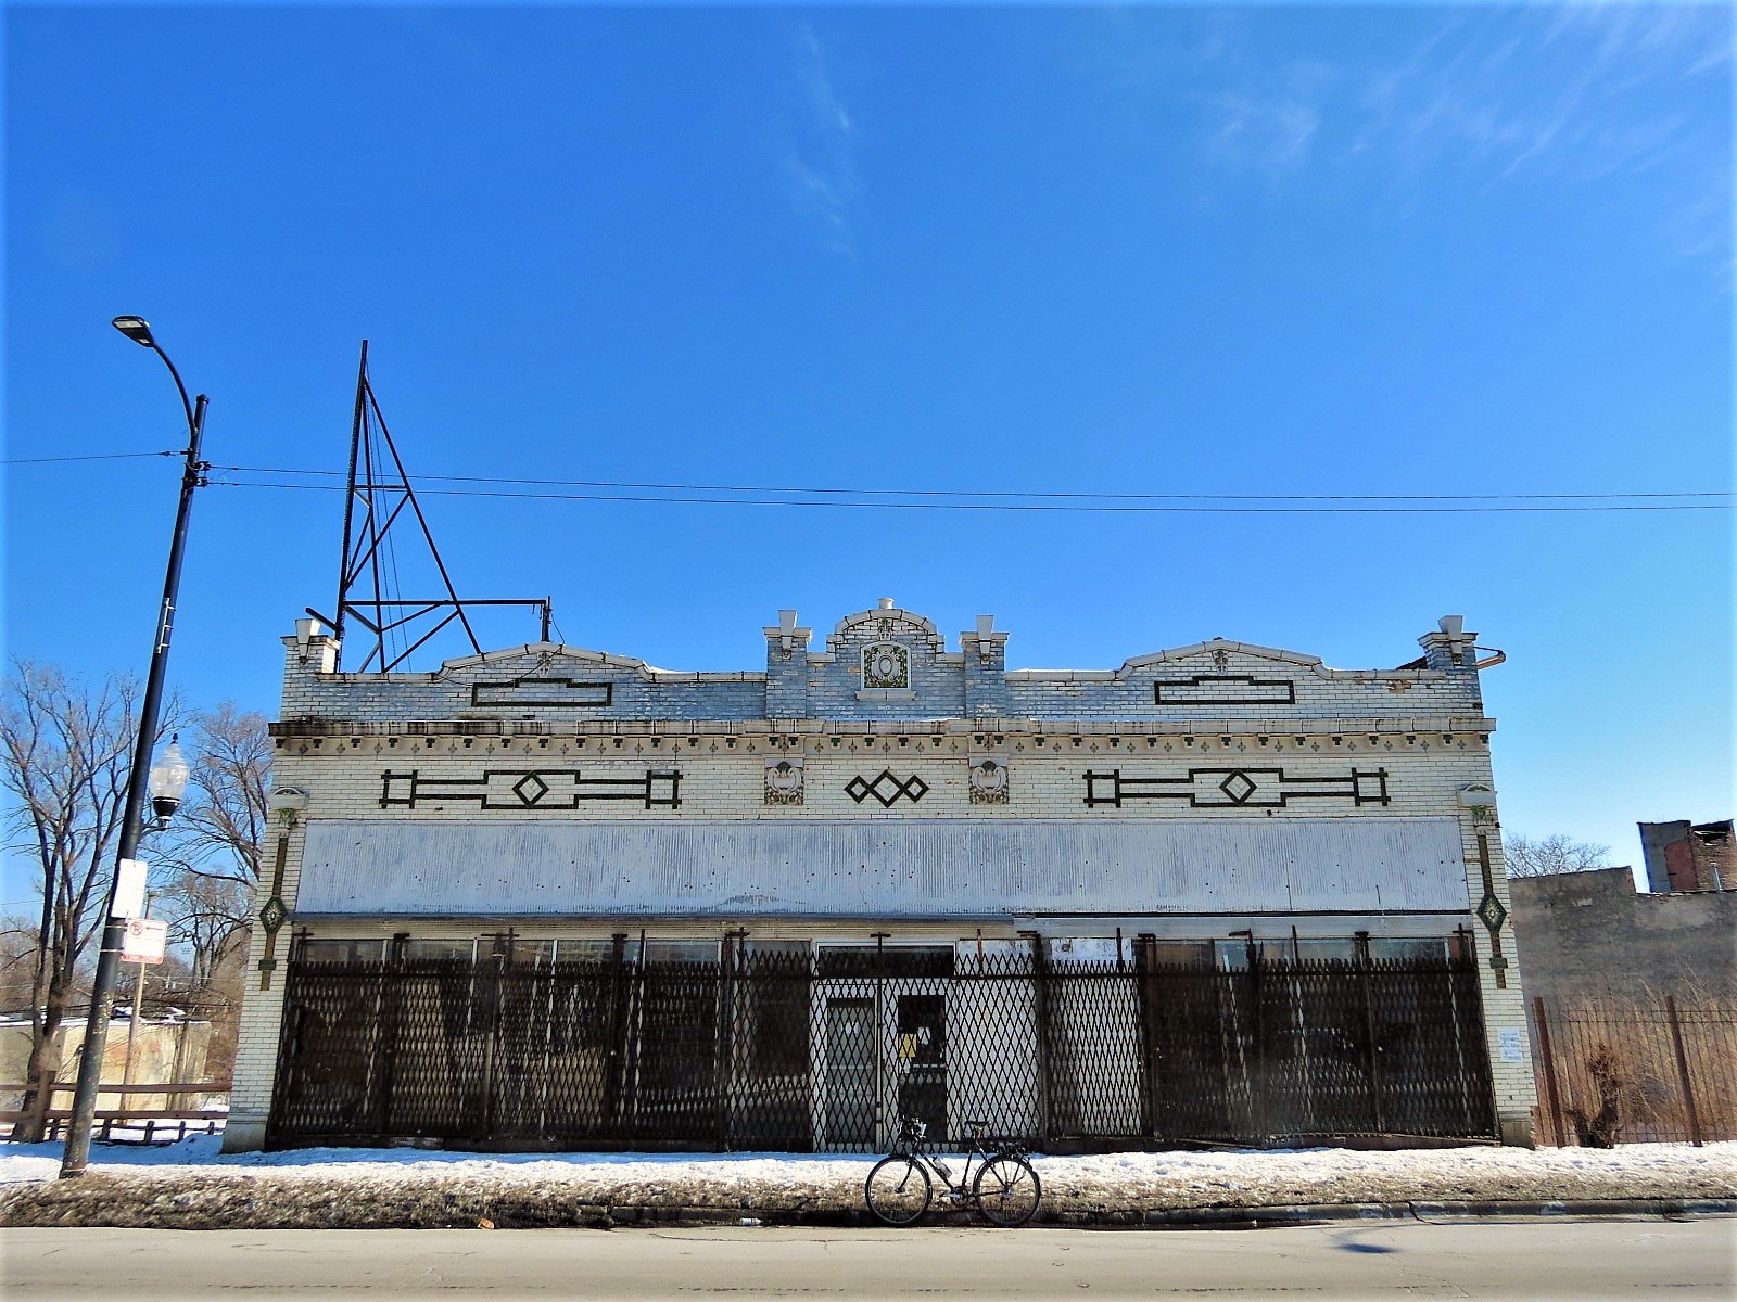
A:
{"label": "rusty brown metal fence right of the white brick building", "polygon": [[1539,1142],[1737,1139],[1737,1007],[1532,1000]]}

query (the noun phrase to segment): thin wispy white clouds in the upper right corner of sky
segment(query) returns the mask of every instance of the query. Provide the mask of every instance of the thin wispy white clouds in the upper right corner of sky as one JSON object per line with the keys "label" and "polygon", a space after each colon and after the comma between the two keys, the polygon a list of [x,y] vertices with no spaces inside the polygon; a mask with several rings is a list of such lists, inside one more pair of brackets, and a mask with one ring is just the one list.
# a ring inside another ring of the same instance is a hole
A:
{"label": "thin wispy white clouds in the upper right corner of sky", "polygon": [[1461,9],[1409,49],[1372,38],[1332,61],[1271,31],[1261,16],[1216,17],[1186,57],[1171,36],[1166,68],[1145,69],[1193,101],[1216,174],[1284,189],[1374,170],[1402,207],[1443,177],[1497,187],[1652,174],[1678,214],[1662,238],[1683,253],[1728,247],[1728,102],[1697,108],[1713,102],[1711,78],[1730,76],[1725,9]]}

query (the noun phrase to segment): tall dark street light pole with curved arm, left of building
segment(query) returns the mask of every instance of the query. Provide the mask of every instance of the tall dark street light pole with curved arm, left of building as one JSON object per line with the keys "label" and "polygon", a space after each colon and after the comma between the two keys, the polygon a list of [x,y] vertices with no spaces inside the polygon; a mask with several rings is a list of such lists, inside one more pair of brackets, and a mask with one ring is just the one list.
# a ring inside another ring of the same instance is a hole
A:
{"label": "tall dark street light pole with curved arm, left of building", "polygon": [[[193,510],[193,490],[203,483],[210,469],[200,460],[200,441],[205,436],[205,394],[193,403],[181,384],[181,372],[168,354],[151,339],[151,326],[137,316],[116,316],[115,328],[127,339],[151,349],[175,380],[181,406],[188,415],[188,455],[181,472],[181,505],[175,510],[175,533],[168,543],[168,569],[163,575],[163,604],[156,615],[156,641],[151,644],[151,672],[144,681],[144,701],[139,705],[139,738],[132,752],[132,773],[127,774],[127,811],[120,825],[120,849],[115,863],[115,880],[109,882],[106,917],[102,920],[102,950],[97,953],[97,974],[90,988],[90,1017],[85,1021],[85,1045],[78,1061],[78,1085],[73,1094],[73,1116],[66,1127],[66,1154],[61,1158],[61,1179],[85,1174],[90,1160],[90,1123],[97,1109],[97,1087],[102,1083],[102,1050],[108,1047],[108,1024],[115,1010],[115,979],[120,974],[120,946],[127,934],[127,920],[115,917],[118,904],[122,861],[132,859],[139,849],[144,825],[144,802],[149,788],[151,750],[156,741],[156,720],[163,703],[163,679],[168,672],[168,639],[175,630],[175,597],[181,589],[181,556],[188,542],[188,516]],[[137,1010],[135,1010],[137,1012]]]}

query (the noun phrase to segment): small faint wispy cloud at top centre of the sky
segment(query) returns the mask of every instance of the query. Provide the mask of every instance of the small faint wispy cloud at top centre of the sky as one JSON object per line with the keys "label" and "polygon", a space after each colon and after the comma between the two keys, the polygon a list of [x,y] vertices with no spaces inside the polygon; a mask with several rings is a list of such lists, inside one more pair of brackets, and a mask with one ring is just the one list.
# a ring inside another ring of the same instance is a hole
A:
{"label": "small faint wispy cloud at top centre of the sky", "polygon": [[785,187],[796,210],[809,219],[822,245],[853,253],[863,182],[856,170],[856,123],[839,99],[830,59],[811,23],[792,31],[794,130],[782,158]]}

